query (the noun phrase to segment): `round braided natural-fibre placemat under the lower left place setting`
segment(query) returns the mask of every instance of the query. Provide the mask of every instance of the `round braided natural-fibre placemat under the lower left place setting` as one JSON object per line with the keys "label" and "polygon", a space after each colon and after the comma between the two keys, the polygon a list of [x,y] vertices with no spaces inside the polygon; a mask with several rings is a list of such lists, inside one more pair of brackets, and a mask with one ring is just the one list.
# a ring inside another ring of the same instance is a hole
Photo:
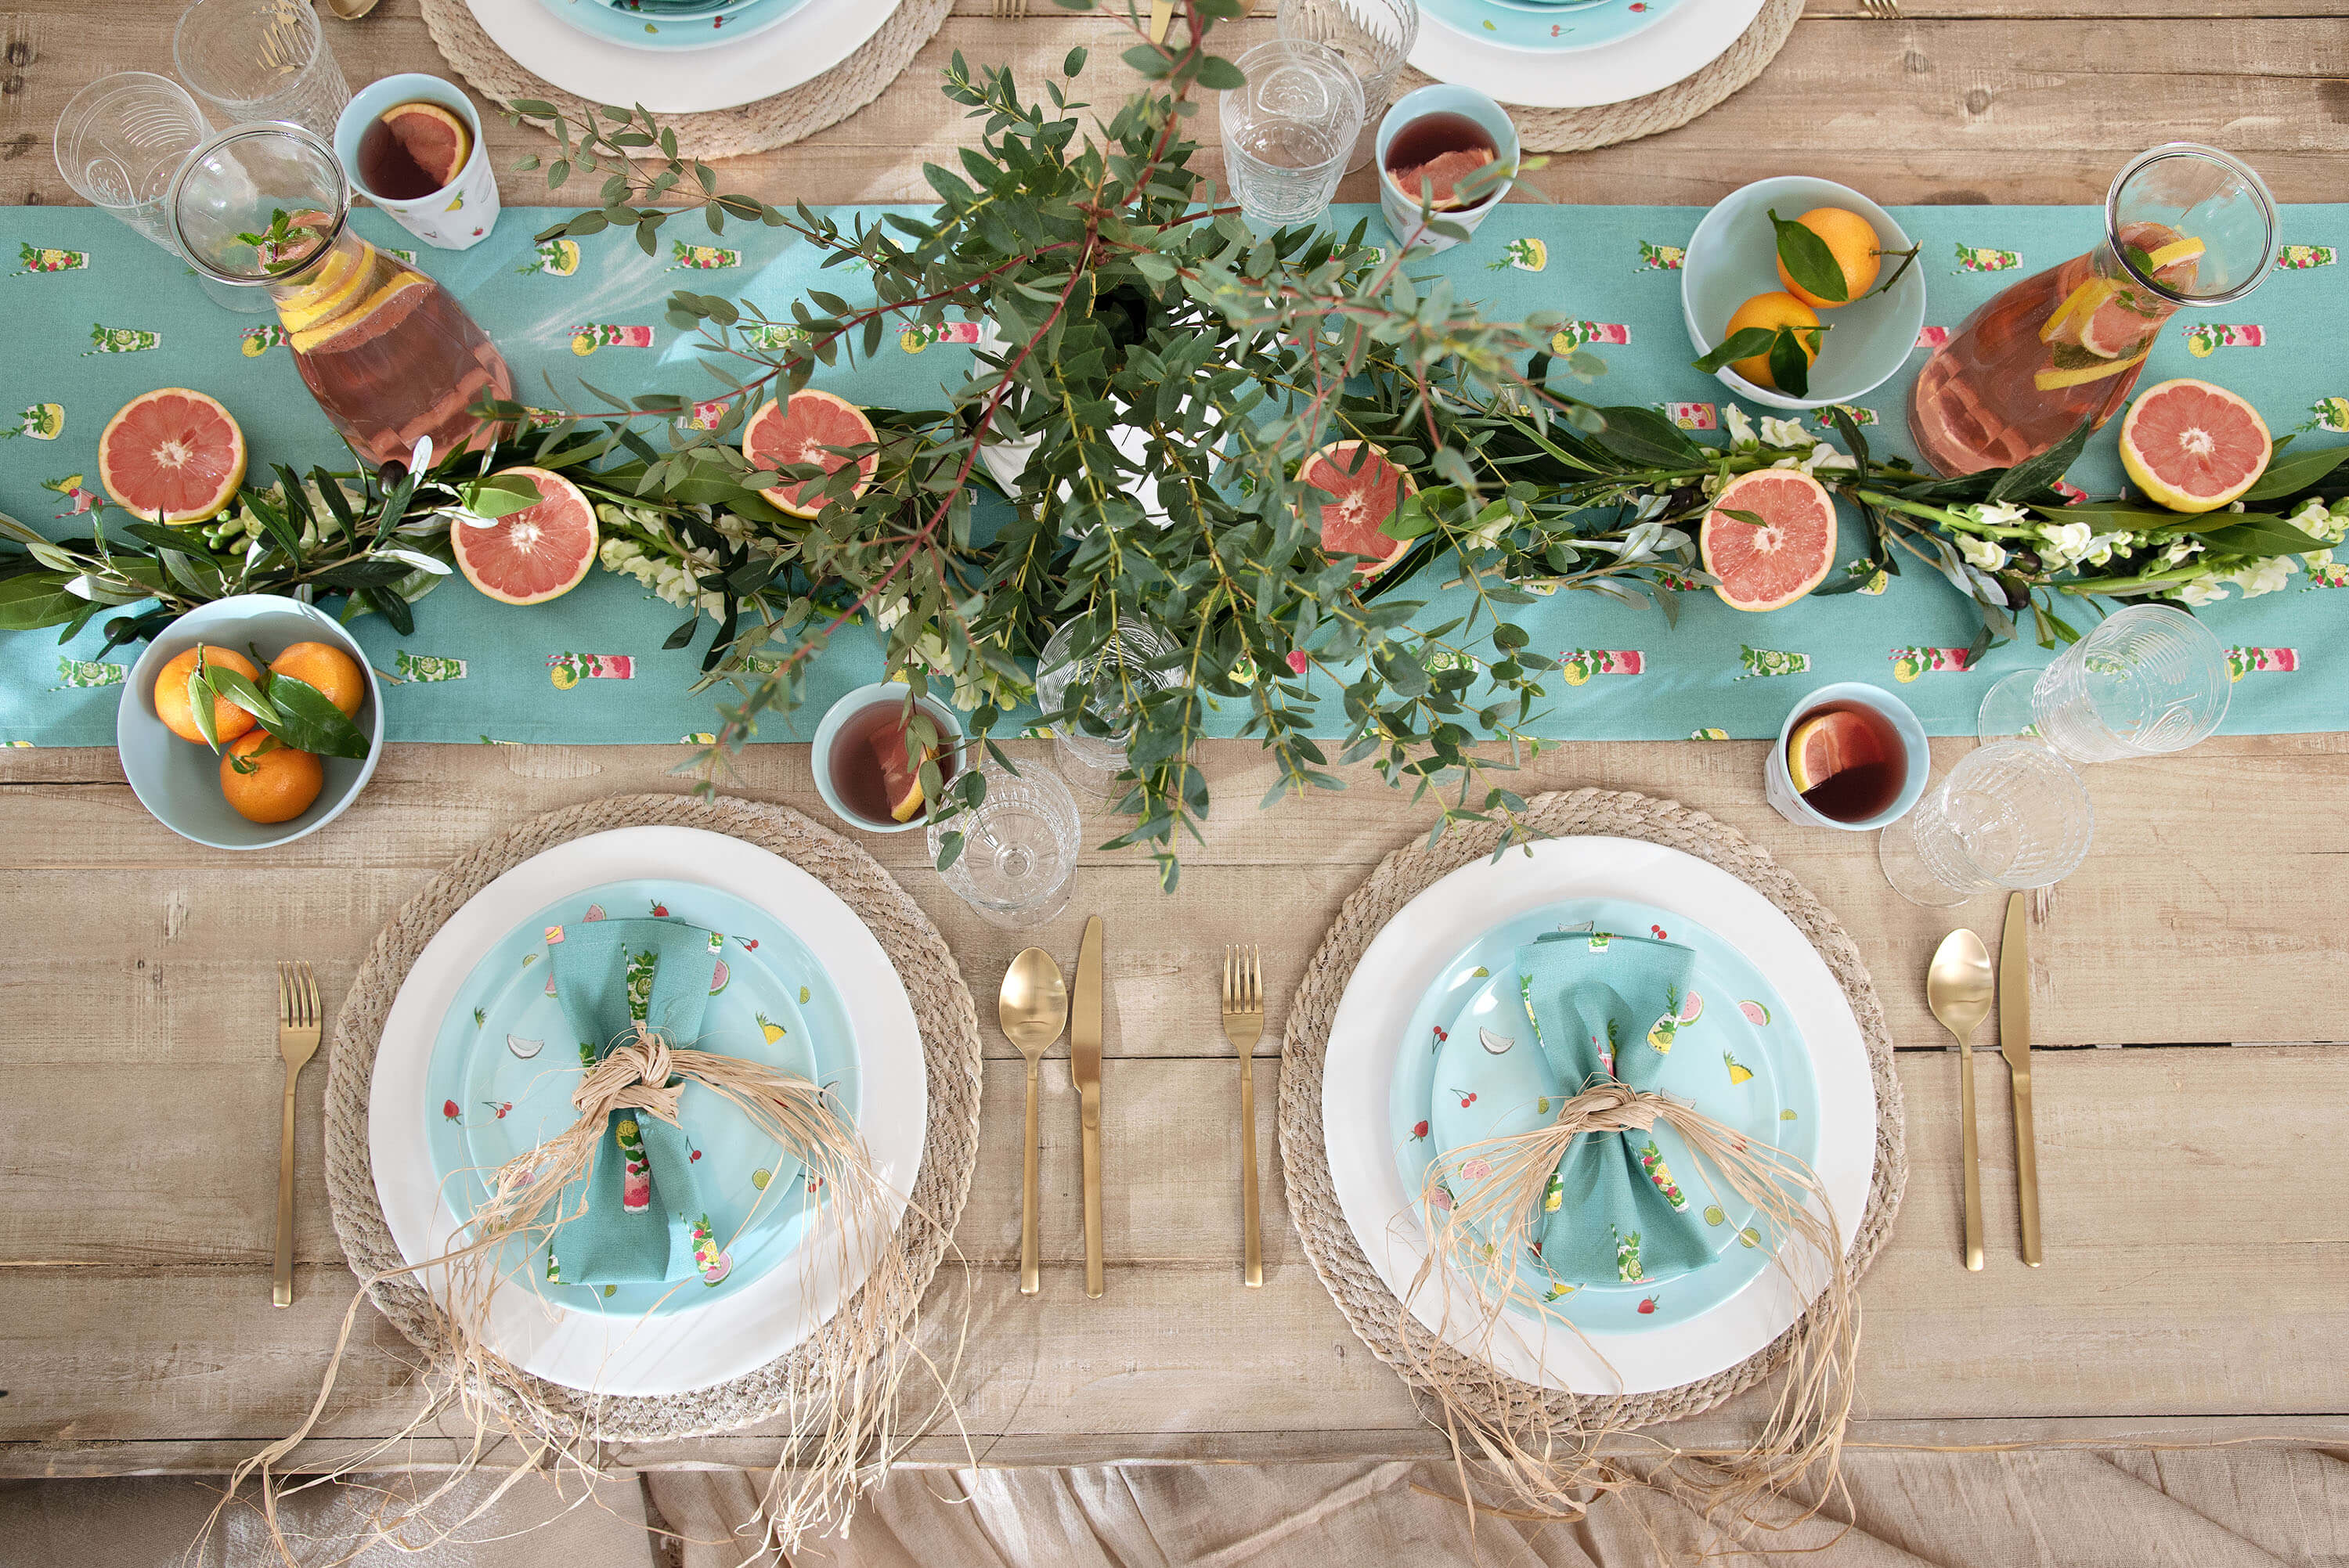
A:
{"label": "round braided natural-fibre placemat under the lower left place setting", "polygon": [[[930,1073],[930,1117],[923,1134],[921,1171],[914,1176],[914,1202],[890,1237],[890,1244],[907,1258],[911,1286],[904,1307],[911,1310],[963,1214],[970,1171],[980,1157],[980,1016],[970,1005],[970,991],[963,988],[963,972],[947,953],[944,937],[890,880],[881,861],[785,805],[754,800],[613,796],[547,812],[458,859],[376,934],[376,946],[359,965],[350,995],[343,998],[327,1059],[327,1192],[334,1204],[334,1232],[343,1239],[343,1256],[359,1279],[397,1270],[404,1263],[390,1228],[383,1223],[383,1207],[376,1202],[376,1178],[366,1157],[366,1096],[383,1019],[390,1014],[392,998],[406,981],[416,955],[465,899],[533,854],[587,833],[655,824],[726,833],[789,859],[857,911],[904,981],[914,1019],[921,1023],[921,1054]],[[418,1347],[435,1357],[442,1354],[423,1286],[413,1279],[383,1279],[366,1286],[366,1293]],[[848,1312],[841,1312],[832,1322],[846,1317]],[[566,1437],[592,1441],[695,1437],[742,1427],[789,1406],[794,1387],[799,1387],[796,1380],[813,1366],[815,1343],[817,1338],[810,1336],[789,1354],[752,1373],[658,1399],[585,1394],[521,1373],[500,1376],[496,1387],[479,1392],[500,1408],[519,1408],[536,1430]]]}

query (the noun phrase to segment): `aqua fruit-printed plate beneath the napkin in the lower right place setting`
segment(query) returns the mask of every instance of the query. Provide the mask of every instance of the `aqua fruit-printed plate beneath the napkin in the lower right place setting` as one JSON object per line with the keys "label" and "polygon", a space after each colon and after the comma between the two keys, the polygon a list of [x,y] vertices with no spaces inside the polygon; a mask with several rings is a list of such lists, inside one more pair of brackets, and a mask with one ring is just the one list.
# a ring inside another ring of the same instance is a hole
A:
{"label": "aqua fruit-printed plate beneath the napkin in the lower right place setting", "polygon": [[[1661,941],[1694,951],[1696,981],[1691,998],[1682,1002],[1687,1021],[1680,1023],[1658,1063],[1661,1070],[1647,1087],[1811,1162],[1818,1153],[1818,1089],[1811,1063],[1802,1040],[1785,1023],[1785,1002],[1752,960],[1696,920],[1654,904],[1567,899],[1503,920],[1470,941],[1445,965],[1442,976],[1414,1009],[1405,1040],[1423,1040],[1426,1049],[1405,1052],[1388,1096],[1395,1169],[1414,1202],[1423,1190],[1428,1164],[1449,1148],[1447,1122],[1461,1122],[1466,1117],[1459,1113],[1470,1110],[1456,1101],[1470,1099],[1475,1120],[1480,1124],[1489,1120],[1492,1075],[1480,1073],[1480,1056],[1496,1045],[1501,1052],[1517,1049],[1527,1035],[1525,1005],[1515,986],[1515,953],[1550,932],[1661,932]],[[1651,1047],[1633,1042],[1626,1049]],[[1447,1091],[1454,1096],[1449,1106],[1442,1103]],[[1478,1099],[1480,1094],[1485,1099]],[[1548,1120],[1553,1110],[1555,1103],[1506,1108],[1503,1120],[1492,1122],[1492,1131],[1525,1131]],[[1647,1141],[1651,1153],[1642,1150],[1642,1157],[1654,1157],[1656,1169],[1675,1181],[1687,1211],[1705,1223],[1715,1261],[1677,1277],[1628,1282],[1562,1279],[1539,1258],[1522,1258],[1520,1279],[1548,1303],[1543,1314],[1550,1322],[1583,1331],[1651,1333],[1710,1312],[1769,1268],[1752,1204],[1715,1181],[1712,1169],[1698,1162],[1670,1127],[1658,1122]],[[1560,1211],[1548,1223],[1567,1225],[1571,1218]]]}

